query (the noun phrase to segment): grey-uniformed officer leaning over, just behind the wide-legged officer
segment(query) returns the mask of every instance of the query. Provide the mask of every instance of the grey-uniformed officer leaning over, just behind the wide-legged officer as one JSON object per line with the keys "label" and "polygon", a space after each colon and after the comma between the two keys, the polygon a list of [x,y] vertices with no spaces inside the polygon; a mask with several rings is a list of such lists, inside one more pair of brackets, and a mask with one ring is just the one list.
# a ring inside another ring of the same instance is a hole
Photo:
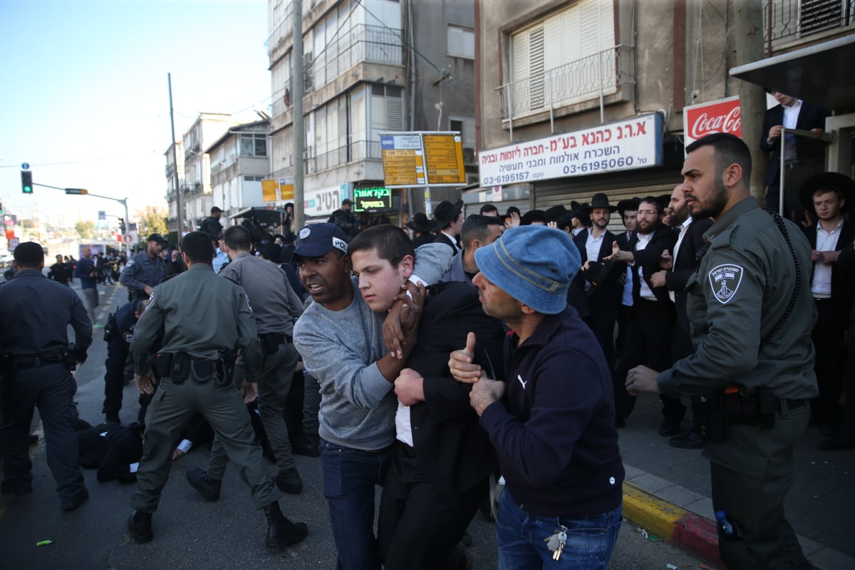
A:
{"label": "grey-uniformed officer leaning over, just behind the wide-legged officer", "polygon": [[[284,414],[294,367],[299,360],[292,342],[293,323],[303,314],[303,303],[288,284],[288,276],[280,267],[250,253],[252,237],[244,226],[227,228],[221,244],[231,263],[222,269],[220,275],[244,288],[256,316],[264,366],[259,376],[247,378],[258,385],[258,414],[279,469],[274,482],[280,490],[298,494],[303,491],[303,480],[294,463]],[[275,244],[273,247],[278,249]],[[215,438],[208,472],[189,467],[187,480],[194,488],[201,488],[203,496],[206,491],[218,492],[227,462],[228,455],[222,442],[220,438]]]}

